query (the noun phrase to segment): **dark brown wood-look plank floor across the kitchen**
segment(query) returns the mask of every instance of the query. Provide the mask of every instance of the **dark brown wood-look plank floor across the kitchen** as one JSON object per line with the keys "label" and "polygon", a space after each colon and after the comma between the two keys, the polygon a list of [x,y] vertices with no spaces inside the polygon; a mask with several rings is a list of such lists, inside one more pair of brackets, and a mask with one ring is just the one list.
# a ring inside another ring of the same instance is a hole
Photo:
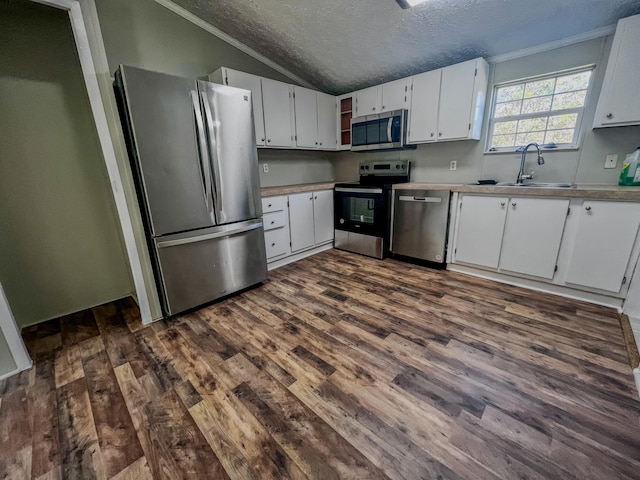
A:
{"label": "dark brown wood-look plank floor across the kitchen", "polygon": [[615,311],[329,251],[188,315],[28,328],[2,478],[638,479]]}

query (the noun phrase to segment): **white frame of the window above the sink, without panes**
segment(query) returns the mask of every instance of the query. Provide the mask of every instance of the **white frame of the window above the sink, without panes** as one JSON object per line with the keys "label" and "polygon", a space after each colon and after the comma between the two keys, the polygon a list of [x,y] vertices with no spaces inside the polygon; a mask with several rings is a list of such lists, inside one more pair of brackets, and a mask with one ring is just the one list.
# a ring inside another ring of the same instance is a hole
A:
{"label": "white frame of the window above the sink, without panes", "polygon": [[[510,87],[514,85],[524,85],[530,82],[547,80],[550,78],[564,77],[566,75],[572,75],[572,74],[577,74],[582,72],[591,72],[591,75],[589,76],[589,84],[587,85],[587,89],[586,89],[584,105],[582,105],[582,107],[567,108],[563,110],[553,110],[553,111],[550,110],[546,112],[528,113],[528,114],[521,114],[521,115],[512,115],[509,117],[500,117],[500,119],[498,119],[499,122],[504,122],[504,121],[527,120],[527,119],[535,119],[535,118],[541,118],[541,117],[549,117],[552,115],[555,116],[555,115],[576,113],[578,118],[576,119],[576,125],[573,132],[573,141],[571,143],[560,143],[560,144],[557,144],[557,146],[553,146],[553,147],[540,145],[540,148],[548,151],[578,150],[580,148],[580,145],[582,144],[583,119],[586,113],[585,111],[590,104],[591,92],[592,92],[594,77],[595,77],[595,69],[596,69],[596,64],[589,64],[589,65],[582,65],[580,67],[569,68],[566,70],[549,72],[541,75],[532,75],[530,77],[523,77],[516,80],[509,80],[506,82],[494,83],[492,85],[491,109],[489,110],[489,116],[487,118],[488,128],[487,128],[487,133],[485,138],[484,153],[485,154],[514,153],[519,151],[518,149],[521,147],[521,145],[516,145],[513,147],[491,147],[491,140],[493,138],[493,131],[496,124],[495,111],[496,111],[496,105],[498,103],[497,99],[498,99],[499,88]],[[545,130],[545,132],[546,131],[547,130]]]}

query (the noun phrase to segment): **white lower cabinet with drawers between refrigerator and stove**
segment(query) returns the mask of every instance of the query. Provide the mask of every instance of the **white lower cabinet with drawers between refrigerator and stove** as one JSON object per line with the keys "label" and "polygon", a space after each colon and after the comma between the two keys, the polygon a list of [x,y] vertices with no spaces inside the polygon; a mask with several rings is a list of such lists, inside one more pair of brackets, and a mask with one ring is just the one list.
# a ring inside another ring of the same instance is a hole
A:
{"label": "white lower cabinet with drawers between refrigerator and stove", "polygon": [[262,199],[267,261],[279,261],[333,241],[333,190]]}

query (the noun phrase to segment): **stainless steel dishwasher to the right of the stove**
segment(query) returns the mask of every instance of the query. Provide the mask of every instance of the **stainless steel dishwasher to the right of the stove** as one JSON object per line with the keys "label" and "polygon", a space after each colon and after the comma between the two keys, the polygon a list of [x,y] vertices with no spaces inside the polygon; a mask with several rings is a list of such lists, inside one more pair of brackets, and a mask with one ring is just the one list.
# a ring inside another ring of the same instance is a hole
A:
{"label": "stainless steel dishwasher to the right of the stove", "polygon": [[449,190],[394,190],[391,252],[444,263]]}

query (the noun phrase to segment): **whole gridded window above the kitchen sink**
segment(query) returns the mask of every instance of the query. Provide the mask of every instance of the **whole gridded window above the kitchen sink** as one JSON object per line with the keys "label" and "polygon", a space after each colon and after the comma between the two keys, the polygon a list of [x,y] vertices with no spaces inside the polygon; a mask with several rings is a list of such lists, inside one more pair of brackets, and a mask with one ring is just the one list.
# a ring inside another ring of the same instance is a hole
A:
{"label": "whole gridded window above the kitchen sink", "polygon": [[487,149],[575,147],[593,67],[496,85]]}

